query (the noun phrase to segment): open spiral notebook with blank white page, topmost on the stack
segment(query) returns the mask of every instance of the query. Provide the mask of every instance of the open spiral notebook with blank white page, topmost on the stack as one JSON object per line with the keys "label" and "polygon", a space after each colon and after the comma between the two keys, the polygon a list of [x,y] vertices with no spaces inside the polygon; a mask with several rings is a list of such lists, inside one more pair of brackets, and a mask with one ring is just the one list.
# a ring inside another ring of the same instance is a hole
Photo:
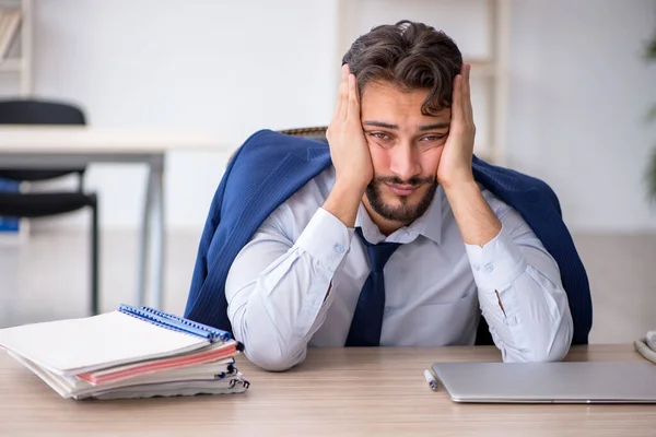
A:
{"label": "open spiral notebook with blank white page, topmost on the stack", "polygon": [[215,336],[230,336],[214,329],[192,333],[180,326],[121,305],[99,316],[0,330],[0,346],[66,376],[190,352],[208,346]]}

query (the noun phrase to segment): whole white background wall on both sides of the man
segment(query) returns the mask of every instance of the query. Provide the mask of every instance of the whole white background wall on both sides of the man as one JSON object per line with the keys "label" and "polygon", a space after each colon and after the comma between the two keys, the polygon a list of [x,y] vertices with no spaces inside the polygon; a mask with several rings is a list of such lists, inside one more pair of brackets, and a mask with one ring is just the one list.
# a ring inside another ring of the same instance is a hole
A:
{"label": "whole white background wall on both sides of the man", "polygon": [[[82,104],[94,126],[208,130],[235,147],[260,128],[324,125],[338,73],[337,3],[36,0],[35,91]],[[380,1],[379,15],[445,23],[464,51],[478,50],[481,33],[453,24],[467,23],[454,1],[443,13],[429,2],[424,14],[415,3]],[[481,21],[472,10],[481,4],[464,11]],[[507,161],[553,186],[573,231],[656,229],[642,186],[656,145],[656,125],[643,122],[656,67],[641,59],[655,31],[651,0],[513,1]],[[202,226],[225,160],[171,156],[172,228]],[[144,169],[94,166],[89,176],[103,225],[137,226]]]}

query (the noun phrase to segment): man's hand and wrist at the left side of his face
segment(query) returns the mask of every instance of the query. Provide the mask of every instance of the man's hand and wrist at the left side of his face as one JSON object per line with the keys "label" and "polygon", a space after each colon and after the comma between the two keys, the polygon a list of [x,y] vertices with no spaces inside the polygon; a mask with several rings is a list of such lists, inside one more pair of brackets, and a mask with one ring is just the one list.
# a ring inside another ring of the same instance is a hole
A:
{"label": "man's hand and wrist at the left side of his face", "polygon": [[353,227],[364,190],[374,177],[374,167],[362,130],[355,75],[350,74],[348,64],[342,67],[337,107],[326,138],[336,178],[324,209]]}

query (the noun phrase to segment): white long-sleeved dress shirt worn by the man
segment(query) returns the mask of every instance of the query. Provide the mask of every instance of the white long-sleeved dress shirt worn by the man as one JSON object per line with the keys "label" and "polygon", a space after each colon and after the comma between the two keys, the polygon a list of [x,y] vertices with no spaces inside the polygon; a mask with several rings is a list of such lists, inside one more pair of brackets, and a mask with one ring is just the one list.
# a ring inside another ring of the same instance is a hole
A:
{"label": "white long-sleeved dress shirt worn by the man", "polygon": [[[234,335],[263,368],[301,363],[308,345],[345,343],[371,270],[354,228],[321,208],[333,182],[333,167],[307,182],[230,269]],[[502,223],[483,247],[462,241],[441,187],[421,217],[387,237],[360,205],[355,227],[368,241],[402,244],[384,269],[380,345],[471,345],[482,311],[505,362],[562,359],[573,328],[558,264],[514,209],[482,192]]]}

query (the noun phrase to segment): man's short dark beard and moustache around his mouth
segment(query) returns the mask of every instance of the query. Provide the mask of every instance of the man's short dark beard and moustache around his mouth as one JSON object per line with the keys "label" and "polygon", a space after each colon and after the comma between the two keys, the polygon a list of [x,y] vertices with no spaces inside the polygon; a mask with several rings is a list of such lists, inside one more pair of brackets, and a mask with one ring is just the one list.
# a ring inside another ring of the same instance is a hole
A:
{"label": "man's short dark beard and moustache around his mouth", "polygon": [[[426,185],[429,188],[419,202],[414,204],[408,203],[409,196],[397,196],[400,205],[394,206],[383,200],[382,186],[384,184],[411,185],[413,187]],[[396,176],[382,176],[374,178],[374,180],[366,186],[365,194],[370,204],[372,205],[372,209],[377,214],[383,216],[383,218],[409,224],[421,217],[423,213],[426,212],[431,205],[431,202],[433,201],[433,198],[435,197],[435,190],[437,190],[437,180],[435,178],[414,177],[409,180],[402,180]]]}

